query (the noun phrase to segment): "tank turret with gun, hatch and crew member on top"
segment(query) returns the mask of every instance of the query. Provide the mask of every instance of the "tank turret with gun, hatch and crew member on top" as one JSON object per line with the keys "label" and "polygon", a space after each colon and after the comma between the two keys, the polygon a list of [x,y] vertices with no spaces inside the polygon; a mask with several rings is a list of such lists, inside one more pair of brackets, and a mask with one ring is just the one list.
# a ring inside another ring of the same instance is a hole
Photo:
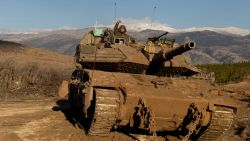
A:
{"label": "tank turret with gun, hatch and crew member on top", "polygon": [[[87,33],[77,46],[77,63],[86,69],[157,76],[190,76],[199,72],[188,66],[188,57],[182,54],[195,47],[193,41],[176,47],[175,40],[161,39],[168,34],[165,32],[148,38],[142,47],[126,32],[120,32],[126,31],[120,23],[116,22],[114,31],[106,29],[101,37],[92,31]],[[166,61],[171,65],[164,65]]]}

